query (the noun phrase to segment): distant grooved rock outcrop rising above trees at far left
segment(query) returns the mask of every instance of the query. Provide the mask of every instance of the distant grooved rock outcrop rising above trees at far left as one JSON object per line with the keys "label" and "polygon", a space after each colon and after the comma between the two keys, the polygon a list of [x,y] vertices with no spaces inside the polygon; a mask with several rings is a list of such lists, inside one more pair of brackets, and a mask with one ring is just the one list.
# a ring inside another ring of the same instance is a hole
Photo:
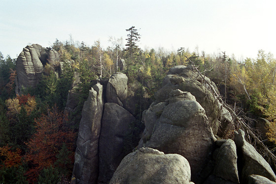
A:
{"label": "distant grooved rock outcrop rising above trees at far left", "polygon": [[59,54],[55,50],[48,50],[41,45],[32,44],[26,46],[16,60],[17,82],[16,93],[22,88],[34,87],[44,69],[46,63],[58,62]]}

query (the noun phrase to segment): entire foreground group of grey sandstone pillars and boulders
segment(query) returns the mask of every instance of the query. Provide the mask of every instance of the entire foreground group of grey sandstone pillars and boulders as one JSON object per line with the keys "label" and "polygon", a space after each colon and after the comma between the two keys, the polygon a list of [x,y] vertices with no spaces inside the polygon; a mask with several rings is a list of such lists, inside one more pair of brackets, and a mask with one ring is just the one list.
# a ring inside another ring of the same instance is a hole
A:
{"label": "entire foreground group of grey sandstone pillars and boulders", "polygon": [[215,85],[205,80],[212,86],[189,67],[170,69],[156,101],[142,114],[145,128],[133,153],[126,152],[125,143],[137,122],[133,105],[138,85],[128,86],[126,75],[115,73],[105,84],[106,98],[100,95],[105,87],[93,86],[79,127],[76,184],[275,182],[270,165],[245,141],[242,130],[234,141],[217,136],[234,124],[208,90],[217,90]]}

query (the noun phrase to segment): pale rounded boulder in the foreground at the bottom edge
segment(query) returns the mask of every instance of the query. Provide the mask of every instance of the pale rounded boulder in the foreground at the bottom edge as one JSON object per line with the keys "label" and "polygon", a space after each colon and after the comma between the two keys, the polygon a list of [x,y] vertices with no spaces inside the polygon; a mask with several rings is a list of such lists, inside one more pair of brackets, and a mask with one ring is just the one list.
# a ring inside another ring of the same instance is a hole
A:
{"label": "pale rounded boulder in the foreground at the bottom edge", "polygon": [[109,184],[192,184],[187,159],[140,148],[120,163]]}

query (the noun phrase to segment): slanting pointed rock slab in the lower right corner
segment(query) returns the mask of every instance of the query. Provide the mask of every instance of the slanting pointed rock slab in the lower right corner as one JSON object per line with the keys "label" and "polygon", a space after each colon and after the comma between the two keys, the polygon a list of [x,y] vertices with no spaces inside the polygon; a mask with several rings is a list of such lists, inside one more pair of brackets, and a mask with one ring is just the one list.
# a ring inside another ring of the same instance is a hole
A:
{"label": "slanting pointed rock slab in the lower right corner", "polygon": [[238,156],[242,157],[242,178],[241,183],[246,182],[249,175],[260,175],[269,180],[276,181],[276,175],[268,162],[260,155],[255,148],[244,139],[244,132],[240,129],[235,132],[234,141],[237,146]]}

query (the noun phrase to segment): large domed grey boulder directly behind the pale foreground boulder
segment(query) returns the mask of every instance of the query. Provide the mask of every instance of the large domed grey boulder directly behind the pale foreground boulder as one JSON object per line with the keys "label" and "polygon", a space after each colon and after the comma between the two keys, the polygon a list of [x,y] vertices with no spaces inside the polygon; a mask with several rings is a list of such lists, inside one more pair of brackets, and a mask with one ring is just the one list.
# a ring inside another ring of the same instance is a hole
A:
{"label": "large domed grey boulder directly behind the pale foreground boulder", "polygon": [[145,131],[138,148],[149,147],[164,153],[177,153],[190,163],[192,181],[211,155],[214,136],[205,110],[189,92],[171,92],[169,103],[152,105],[144,112]]}

